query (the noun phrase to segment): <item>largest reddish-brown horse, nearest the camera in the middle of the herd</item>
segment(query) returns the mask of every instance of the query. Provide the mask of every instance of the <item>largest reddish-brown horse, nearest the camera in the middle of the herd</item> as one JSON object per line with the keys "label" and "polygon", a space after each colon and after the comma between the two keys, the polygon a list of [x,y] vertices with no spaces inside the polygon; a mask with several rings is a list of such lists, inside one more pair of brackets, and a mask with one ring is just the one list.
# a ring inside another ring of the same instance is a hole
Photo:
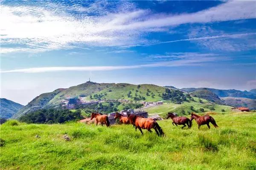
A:
{"label": "largest reddish-brown horse, nearest the camera in the middle of the herd", "polygon": [[[134,114],[130,114],[130,115],[128,115],[128,121],[132,125],[135,125],[135,130],[137,130],[137,128],[138,128],[140,130],[141,134],[143,134],[141,129],[147,129],[149,132],[152,132],[151,128],[154,128],[154,130],[156,131],[158,136],[164,135],[162,128],[153,119],[144,118],[144,117],[136,116]],[[159,131],[160,134],[158,133],[157,130]]]}

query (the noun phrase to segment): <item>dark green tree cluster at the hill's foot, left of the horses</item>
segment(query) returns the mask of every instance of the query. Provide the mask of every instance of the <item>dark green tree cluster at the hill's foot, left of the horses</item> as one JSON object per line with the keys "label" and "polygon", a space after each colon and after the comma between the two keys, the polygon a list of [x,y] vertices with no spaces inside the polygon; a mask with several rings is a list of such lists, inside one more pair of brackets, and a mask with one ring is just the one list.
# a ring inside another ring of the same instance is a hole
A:
{"label": "dark green tree cluster at the hill's foot, left of the horses", "polygon": [[81,119],[81,111],[72,112],[67,109],[40,109],[20,117],[20,122],[26,123],[64,123],[70,120]]}

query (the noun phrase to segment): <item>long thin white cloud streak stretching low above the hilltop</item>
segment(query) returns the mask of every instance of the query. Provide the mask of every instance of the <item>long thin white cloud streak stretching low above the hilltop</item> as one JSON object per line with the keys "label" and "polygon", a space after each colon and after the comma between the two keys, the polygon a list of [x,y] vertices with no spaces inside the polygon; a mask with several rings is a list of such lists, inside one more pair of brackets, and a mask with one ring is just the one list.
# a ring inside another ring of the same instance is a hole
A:
{"label": "long thin white cloud streak stretching low above the hilltop", "polygon": [[[172,57],[173,60],[142,64],[142,65],[121,65],[121,66],[84,66],[84,67],[40,67],[40,68],[24,68],[14,70],[2,70],[1,73],[43,73],[52,71],[111,71],[134,68],[150,68],[150,67],[177,67],[177,66],[195,66],[204,65],[209,62],[216,62],[225,58],[218,57],[218,54],[199,54],[199,53],[166,53],[166,56],[150,56],[151,58]],[[228,58],[228,57],[227,57]],[[226,58],[226,59],[227,59]]]}

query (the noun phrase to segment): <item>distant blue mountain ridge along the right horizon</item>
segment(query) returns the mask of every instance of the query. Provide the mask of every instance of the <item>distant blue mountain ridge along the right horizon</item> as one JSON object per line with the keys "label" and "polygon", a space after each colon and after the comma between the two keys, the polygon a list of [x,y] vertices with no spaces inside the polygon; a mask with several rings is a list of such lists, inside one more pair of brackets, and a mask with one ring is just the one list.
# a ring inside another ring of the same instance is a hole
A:
{"label": "distant blue mountain ridge along the right horizon", "polygon": [[216,94],[218,97],[242,97],[248,99],[256,99],[256,94],[248,91],[239,91],[239,90],[220,90],[215,88],[181,88],[183,91],[192,92],[200,90],[209,90],[212,93]]}

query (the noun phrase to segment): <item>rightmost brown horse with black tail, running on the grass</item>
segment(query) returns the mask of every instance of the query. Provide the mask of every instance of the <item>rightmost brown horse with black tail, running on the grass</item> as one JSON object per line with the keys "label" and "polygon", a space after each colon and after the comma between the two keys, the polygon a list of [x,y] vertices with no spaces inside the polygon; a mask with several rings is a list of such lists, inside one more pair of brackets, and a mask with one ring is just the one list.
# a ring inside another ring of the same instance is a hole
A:
{"label": "rightmost brown horse with black tail, running on the grass", "polygon": [[201,125],[207,125],[208,128],[210,128],[209,123],[211,122],[212,125],[217,128],[218,125],[216,124],[215,120],[212,118],[212,116],[209,115],[204,115],[204,116],[199,116],[195,113],[191,113],[191,118],[190,120],[192,121],[193,119],[195,119],[195,121],[198,124],[198,129],[200,128]]}

